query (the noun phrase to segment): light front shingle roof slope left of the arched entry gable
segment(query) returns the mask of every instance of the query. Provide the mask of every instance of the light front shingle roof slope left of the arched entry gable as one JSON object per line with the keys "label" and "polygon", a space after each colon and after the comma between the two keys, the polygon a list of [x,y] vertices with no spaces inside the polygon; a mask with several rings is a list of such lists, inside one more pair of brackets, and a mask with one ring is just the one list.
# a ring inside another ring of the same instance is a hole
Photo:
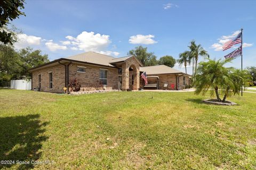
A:
{"label": "light front shingle roof slope left of the arched entry gable", "polygon": [[94,63],[94,64],[114,66],[110,64],[110,61],[113,60],[115,57],[111,57],[108,55],[95,53],[95,52],[86,52],[86,53],[70,56],[67,58],[70,60],[77,60],[77,61]]}

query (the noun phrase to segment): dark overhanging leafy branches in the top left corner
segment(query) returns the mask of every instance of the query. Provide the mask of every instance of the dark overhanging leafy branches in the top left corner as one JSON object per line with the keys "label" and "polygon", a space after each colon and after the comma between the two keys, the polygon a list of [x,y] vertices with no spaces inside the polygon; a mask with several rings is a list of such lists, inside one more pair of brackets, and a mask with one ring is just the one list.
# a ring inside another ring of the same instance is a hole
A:
{"label": "dark overhanging leafy branches in the top left corner", "polygon": [[5,29],[9,21],[19,18],[20,15],[25,15],[20,9],[24,8],[25,0],[2,0],[0,1],[0,41],[4,44],[15,42],[12,32]]}

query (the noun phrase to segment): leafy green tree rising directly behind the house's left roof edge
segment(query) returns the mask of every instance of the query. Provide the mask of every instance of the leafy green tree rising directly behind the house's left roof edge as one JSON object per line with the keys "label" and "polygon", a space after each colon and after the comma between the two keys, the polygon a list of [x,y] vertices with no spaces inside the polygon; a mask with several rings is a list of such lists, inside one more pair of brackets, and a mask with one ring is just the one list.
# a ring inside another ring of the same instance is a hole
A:
{"label": "leafy green tree rising directly behind the house's left roof edge", "polygon": [[19,55],[21,57],[21,62],[22,62],[22,71],[21,74],[25,77],[29,77],[30,73],[28,72],[28,69],[50,62],[48,60],[48,55],[41,54],[41,50],[33,50],[33,48],[27,47],[27,48],[22,48],[19,51]]}

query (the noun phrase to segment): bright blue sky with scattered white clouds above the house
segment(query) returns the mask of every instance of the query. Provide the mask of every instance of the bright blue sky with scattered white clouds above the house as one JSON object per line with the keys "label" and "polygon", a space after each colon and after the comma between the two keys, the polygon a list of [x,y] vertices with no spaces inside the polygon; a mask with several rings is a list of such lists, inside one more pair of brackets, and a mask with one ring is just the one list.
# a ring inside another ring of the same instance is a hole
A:
{"label": "bright blue sky with scattered white clouds above the house", "polygon": [[[234,50],[222,52],[221,43],[243,27],[246,67],[256,65],[255,6],[256,1],[26,1],[26,16],[11,24],[23,32],[15,47],[41,49],[50,60],[90,50],[122,57],[138,45],[158,58],[177,59],[192,39],[218,59]],[[229,66],[240,67],[240,59]]]}

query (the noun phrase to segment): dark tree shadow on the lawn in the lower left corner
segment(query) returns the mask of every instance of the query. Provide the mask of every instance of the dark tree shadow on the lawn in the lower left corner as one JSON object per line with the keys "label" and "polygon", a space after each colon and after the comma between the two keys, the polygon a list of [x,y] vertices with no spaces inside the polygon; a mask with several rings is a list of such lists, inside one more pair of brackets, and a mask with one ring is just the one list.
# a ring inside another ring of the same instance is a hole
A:
{"label": "dark tree shadow on the lawn in the lower left corner", "polygon": [[[47,122],[39,120],[39,114],[26,116],[0,117],[0,160],[14,160],[15,164],[0,164],[0,169],[17,165],[19,161],[37,160],[41,156],[38,150],[47,139],[43,133]],[[18,169],[34,166],[19,165]]]}

